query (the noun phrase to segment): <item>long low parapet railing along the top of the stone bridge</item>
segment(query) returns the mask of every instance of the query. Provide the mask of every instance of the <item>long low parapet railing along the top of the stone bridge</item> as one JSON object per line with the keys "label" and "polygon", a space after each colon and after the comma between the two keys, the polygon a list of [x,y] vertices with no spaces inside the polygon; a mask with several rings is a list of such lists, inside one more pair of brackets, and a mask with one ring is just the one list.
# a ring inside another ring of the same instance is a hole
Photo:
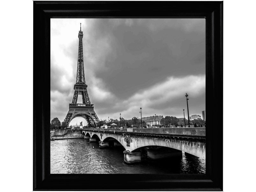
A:
{"label": "long low parapet railing along the top of the stone bridge", "polygon": [[169,133],[205,135],[205,127],[170,127],[170,128],[126,128],[126,129],[95,129],[110,132],[144,132],[144,133]]}

